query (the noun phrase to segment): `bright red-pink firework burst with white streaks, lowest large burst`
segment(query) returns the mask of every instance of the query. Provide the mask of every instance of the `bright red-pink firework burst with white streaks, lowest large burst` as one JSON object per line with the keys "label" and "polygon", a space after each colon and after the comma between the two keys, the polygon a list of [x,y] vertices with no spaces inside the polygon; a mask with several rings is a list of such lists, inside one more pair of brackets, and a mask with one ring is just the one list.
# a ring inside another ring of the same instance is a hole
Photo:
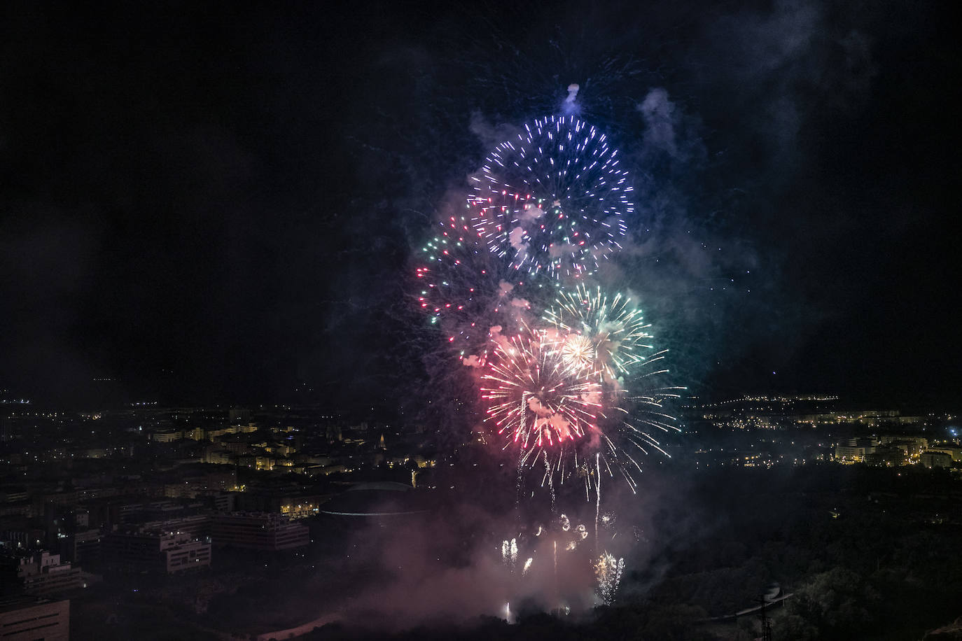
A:
{"label": "bright red-pink firework burst with white streaks, lowest large burst", "polygon": [[[588,500],[594,490],[600,504],[602,474],[615,476],[617,471],[635,491],[633,475],[642,470],[637,456],[652,450],[667,456],[656,434],[678,431],[663,408],[665,399],[678,397],[678,388],[652,388],[632,396],[620,385],[607,384],[597,369],[566,351],[571,335],[557,328],[528,327],[513,337],[496,334],[481,378],[481,397],[486,420],[503,448],[517,449],[519,483],[522,468],[543,461],[542,484],[551,488],[552,496],[556,478],[564,482],[577,476],[585,483]],[[610,356],[616,348],[605,345],[613,344],[601,340],[595,351]],[[646,381],[667,371],[657,369],[662,358],[664,352],[632,356],[635,379]],[[611,363],[618,362],[610,357],[607,367],[613,369]]]}

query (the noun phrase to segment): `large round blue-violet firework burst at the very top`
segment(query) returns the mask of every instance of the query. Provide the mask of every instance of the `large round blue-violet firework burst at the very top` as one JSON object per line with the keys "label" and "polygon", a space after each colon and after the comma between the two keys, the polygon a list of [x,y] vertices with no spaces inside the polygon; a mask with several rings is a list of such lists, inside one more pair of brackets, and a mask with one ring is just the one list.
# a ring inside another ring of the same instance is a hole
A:
{"label": "large round blue-violet firework burst at the very top", "polygon": [[620,249],[634,211],[618,150],[573,115],[547,116],[497,145],[473,176],[472,227],[513,269],[581,278]]}

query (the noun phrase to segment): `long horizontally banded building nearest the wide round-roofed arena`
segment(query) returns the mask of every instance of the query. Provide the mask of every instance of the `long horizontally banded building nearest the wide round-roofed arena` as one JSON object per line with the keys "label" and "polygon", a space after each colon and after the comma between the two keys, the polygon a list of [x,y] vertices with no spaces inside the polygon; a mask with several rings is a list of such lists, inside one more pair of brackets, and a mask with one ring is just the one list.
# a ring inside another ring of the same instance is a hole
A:
{"label": "long horizontally banded building nearest the wide round-roofed arena", "polygon": [[215,545],[268,551],[302,548],[311,542],[307,526],[269,512],[215,515],[211,538]]}

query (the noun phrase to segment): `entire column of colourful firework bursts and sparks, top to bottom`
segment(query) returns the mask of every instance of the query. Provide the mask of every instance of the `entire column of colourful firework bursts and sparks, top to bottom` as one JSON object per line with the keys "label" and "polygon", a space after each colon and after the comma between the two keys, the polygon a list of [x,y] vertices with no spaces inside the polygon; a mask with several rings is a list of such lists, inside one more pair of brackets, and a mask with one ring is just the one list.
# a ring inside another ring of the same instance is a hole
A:
{"label": "entire column of colourful firework bursts and sparks, top to bottom", "polygon": [[[573,104],[577,86],[570,91]],[[658,432],[678,430],[662,406],[678,388],[650,384],[667,371],[665,352],[655,351],[641,309],[585,283],[621,249],[634,211],[628,172],[606,136],[570,111],[497,145],[471,182],[467,202],[418,254],[418,306],[471,368],[462,371],[480,391],[485,442],[517,459],[519,517],[528,472],[544,474],[552,514],[556,483],[583,481],[595,499],[597,553],[608,527],[601,477],[637,491],[640,455],[667,454]],[[558,526],[555,562],[559,544],[574,550],[590,537],[564,515]],[[501,557],[511,572],[523,565],[521,576],[533,562],[519,563],[517,539],[503,541]],[[601,581],[614,583],[608,603],[623,561],[604,559],[598,567],[615,567]]]}

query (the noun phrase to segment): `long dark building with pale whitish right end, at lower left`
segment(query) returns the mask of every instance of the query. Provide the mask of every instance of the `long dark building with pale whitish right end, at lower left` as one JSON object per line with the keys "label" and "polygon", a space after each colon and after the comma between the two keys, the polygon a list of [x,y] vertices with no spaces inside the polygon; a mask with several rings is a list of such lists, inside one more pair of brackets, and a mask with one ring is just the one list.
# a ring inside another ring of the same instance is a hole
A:
{"label": "long dark building with pale whitish right end, at lower left", "polygon": [[211,544],[181,531],[121,530],[103,540],[104,564],[124,572],[176,574],[210,567]]}

